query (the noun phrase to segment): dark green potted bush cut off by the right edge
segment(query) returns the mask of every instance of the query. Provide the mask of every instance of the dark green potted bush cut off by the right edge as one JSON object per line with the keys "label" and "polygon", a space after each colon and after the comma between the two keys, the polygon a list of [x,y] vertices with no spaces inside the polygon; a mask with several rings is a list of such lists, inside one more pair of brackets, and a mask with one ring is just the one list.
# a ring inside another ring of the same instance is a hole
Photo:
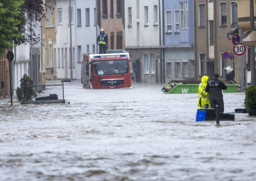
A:
{"label": "dark green potted bush cut off by the right edge", "polygon": [[245,91],[244,99],[245,109],[248,110],[249,116],[256,116],[256,87],[249,86]]}

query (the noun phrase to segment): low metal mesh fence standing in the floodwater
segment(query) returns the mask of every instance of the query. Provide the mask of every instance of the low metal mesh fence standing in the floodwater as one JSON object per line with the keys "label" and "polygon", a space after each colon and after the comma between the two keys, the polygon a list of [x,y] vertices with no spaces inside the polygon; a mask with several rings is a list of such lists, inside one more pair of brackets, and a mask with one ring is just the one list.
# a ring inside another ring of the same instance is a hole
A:
{"label": "low metal mesh fence standing in the floodwater", "polygon": [[62,100],[64,84],[21,86],[22,101]]}

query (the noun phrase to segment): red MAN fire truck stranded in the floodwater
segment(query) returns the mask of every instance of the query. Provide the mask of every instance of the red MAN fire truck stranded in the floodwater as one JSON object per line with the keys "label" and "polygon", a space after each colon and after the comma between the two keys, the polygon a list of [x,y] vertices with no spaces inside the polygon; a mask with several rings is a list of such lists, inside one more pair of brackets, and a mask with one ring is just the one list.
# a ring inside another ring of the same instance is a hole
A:
{"label": "red MAN fire truck stranded in the floodwater", "polygon": [[[128,88],[131,87],[129,52],[107,50],[106,54],[83,54],[81,83],[84,88]],[[133,62],[136,72],[136,62]]]}

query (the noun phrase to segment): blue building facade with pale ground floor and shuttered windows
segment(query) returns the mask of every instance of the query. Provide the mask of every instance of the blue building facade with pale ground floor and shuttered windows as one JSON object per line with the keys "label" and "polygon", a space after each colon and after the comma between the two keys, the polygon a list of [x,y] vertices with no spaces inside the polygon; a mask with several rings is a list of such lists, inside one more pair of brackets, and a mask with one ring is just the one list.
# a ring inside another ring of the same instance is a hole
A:
{"label": "blue building facade with pale ground floor and shuttered windows", "polygon": [[195,80],[193,0],[165,0],[163,7],[164,82]]}

